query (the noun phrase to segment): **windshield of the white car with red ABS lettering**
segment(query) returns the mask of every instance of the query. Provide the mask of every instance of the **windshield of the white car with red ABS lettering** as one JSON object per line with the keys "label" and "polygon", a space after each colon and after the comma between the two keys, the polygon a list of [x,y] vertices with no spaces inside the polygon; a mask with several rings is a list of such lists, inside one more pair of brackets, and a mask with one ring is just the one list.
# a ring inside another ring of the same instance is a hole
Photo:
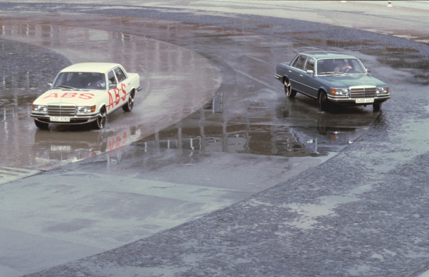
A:
{"label": "windshield of the white car with red ABS lettering", "polygon": [[88,72],[63,72],[55,79],[52,88],[105,90],[104,74]]}

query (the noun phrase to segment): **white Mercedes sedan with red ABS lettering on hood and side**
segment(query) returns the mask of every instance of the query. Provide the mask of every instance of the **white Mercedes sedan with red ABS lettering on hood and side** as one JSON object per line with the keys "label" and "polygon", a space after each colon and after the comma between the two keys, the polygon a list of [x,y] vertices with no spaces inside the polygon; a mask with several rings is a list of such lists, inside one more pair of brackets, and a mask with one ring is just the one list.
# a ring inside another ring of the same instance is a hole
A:
{"label": "white Mercedes sedan with red ABS lettering on hood and side", "polygon": [[31,109],[34,123],[42,129],[49,123],[92,123],[102,129],[106,116],[119,107],[131,111],[135,93],[141,90],[137,73],[107,62],[70,65],[49,85],[50,90],[40,95]]}

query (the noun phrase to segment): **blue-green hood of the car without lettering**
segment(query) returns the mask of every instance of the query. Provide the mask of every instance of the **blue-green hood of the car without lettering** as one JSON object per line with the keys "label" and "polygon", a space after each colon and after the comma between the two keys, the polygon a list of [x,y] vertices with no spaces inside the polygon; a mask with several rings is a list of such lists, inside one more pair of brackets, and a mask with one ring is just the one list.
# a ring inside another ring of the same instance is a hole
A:
{"label": "blue-green hood of the car without lettering", "polygon": [[348,88],[353,86],[387,87],[386,83],[370,75],[330,75],[319,78],[333,88]]}

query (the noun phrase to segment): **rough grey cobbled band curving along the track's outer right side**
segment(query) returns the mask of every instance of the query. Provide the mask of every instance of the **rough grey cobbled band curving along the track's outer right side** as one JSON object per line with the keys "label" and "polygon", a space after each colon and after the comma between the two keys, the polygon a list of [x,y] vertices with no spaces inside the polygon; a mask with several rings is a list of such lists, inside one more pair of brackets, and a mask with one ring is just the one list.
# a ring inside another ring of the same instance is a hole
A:
{"label": "rough grey cobbled band curving along the track's outer right side", "polygon": [[324,163],[202,218],[29,276],[419,276],[429,270],[426,44],[280,18],[187,17],[172,8],[0,7],[167,18],[283,36],[376,57],[374,75],[393,89],[366,133]]}

